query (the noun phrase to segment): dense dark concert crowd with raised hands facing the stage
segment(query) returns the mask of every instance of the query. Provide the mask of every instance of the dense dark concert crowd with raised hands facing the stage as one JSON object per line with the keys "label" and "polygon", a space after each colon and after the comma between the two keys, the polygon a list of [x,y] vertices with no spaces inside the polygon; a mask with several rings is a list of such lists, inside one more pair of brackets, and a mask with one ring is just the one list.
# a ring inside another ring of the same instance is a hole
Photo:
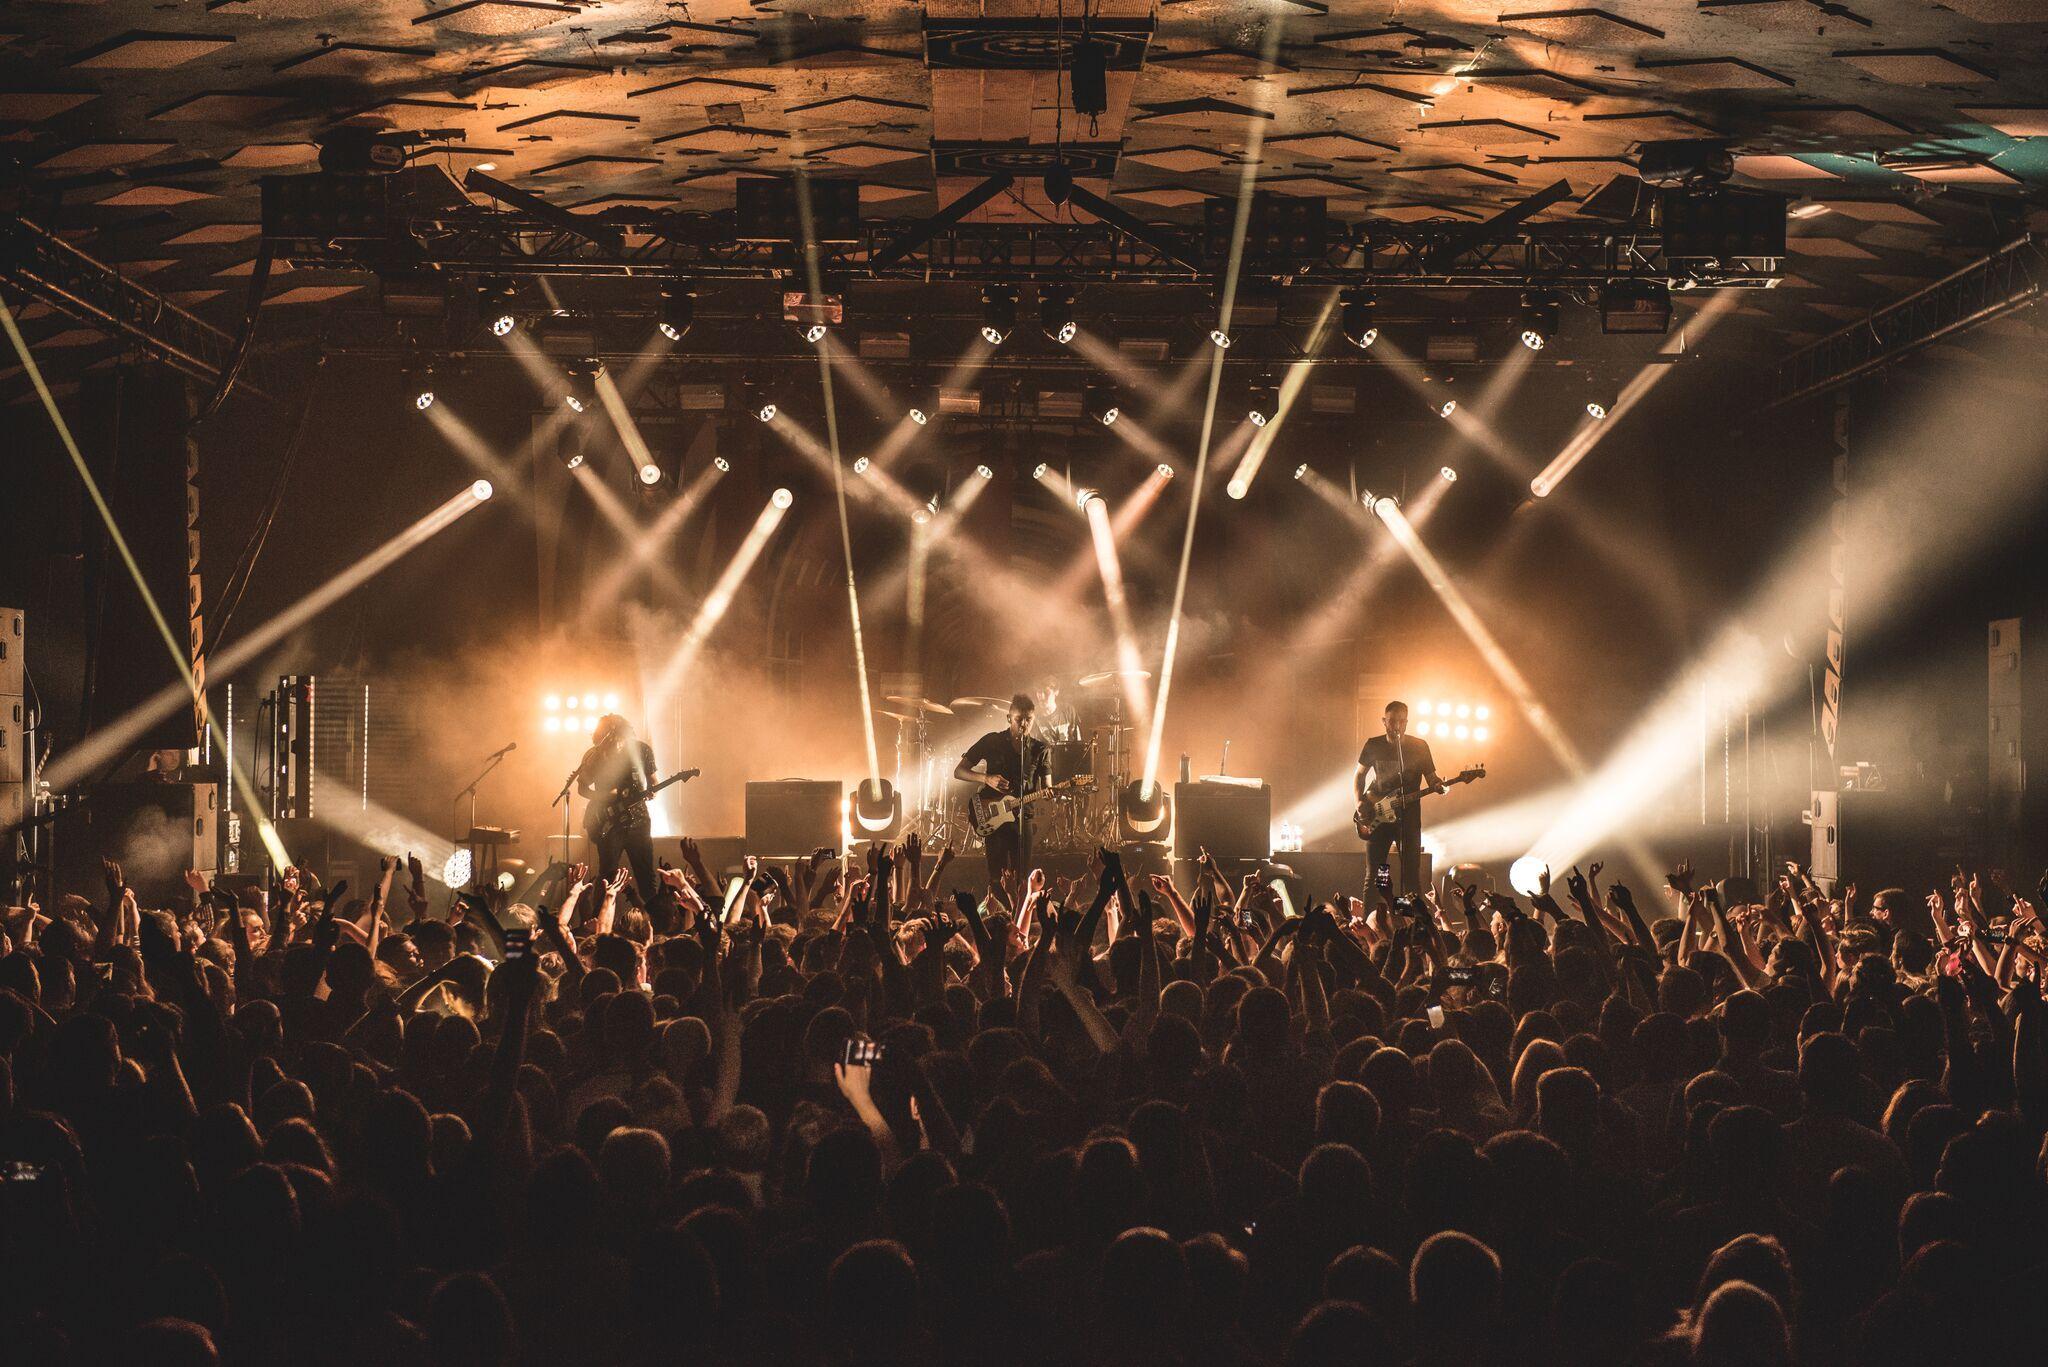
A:
{"label": "dense dark concert crowd with raised hands facing the stage", "polygon": [[915,840],[0,939],[20,1363],[2019,1363],[2036,902]]}

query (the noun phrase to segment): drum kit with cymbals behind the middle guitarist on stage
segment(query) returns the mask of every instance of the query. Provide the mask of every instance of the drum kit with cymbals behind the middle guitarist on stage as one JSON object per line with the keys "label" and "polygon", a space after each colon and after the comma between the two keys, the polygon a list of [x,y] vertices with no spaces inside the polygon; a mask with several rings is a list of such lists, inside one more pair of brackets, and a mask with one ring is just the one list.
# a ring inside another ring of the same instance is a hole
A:
{"label": "drum kit with cymbals behind the middle guitarist on stage", "polygon": [[[1149,678],[1147,670],[1094,670],[1061,680],[1071,680],[1081,701],[1047,709],[1034,734],[1051,746],[1051,781],[1069,787],[1038,803],[1034,848],[1092,853],[1116,842],[1116,793],[1135,773],[1137,728],[1124,719],[1124,689]],[[979,732],[1004,726],[1010,699],[967,695],[938,703],[887,693],[883,703],[874,713],[897,723],[895,785],[903,793],[905,834],[915,830],[932,848],[979,848],[967,820],[969,791],[954,781],[952,767]]]}

